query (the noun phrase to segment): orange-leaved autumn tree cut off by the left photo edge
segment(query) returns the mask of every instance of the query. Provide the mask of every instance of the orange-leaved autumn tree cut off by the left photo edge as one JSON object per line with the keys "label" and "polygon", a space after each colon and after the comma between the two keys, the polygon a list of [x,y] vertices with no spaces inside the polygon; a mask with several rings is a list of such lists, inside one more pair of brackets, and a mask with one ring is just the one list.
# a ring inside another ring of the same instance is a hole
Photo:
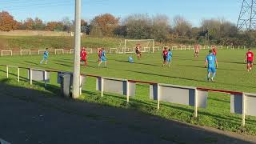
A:
{"label": "orange-leaved autumn tree cut off by the left photo edge", "polygon": [[0,30],[10,31],[18,28],[18,22],[6,11],[0,12]]}

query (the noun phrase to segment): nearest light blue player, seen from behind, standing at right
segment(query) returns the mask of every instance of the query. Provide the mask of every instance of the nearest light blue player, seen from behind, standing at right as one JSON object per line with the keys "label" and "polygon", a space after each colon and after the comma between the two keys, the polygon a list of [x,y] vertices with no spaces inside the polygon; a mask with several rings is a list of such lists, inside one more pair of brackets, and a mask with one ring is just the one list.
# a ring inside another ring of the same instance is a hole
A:
{"label": "nearest light blue player, seen from behind, standing at right", "polygon": [[[208,66],[207,66],[208,65]],[[214,77],[216,75],[216,69],[218,68],[218,61],[216,56],[213,54],[213,50],[209,51],[209,54],[206,56],[206,64],[205,67],[208,67],[208,81],[214,82]],[[210,78],[210,74],[213,74]]]}

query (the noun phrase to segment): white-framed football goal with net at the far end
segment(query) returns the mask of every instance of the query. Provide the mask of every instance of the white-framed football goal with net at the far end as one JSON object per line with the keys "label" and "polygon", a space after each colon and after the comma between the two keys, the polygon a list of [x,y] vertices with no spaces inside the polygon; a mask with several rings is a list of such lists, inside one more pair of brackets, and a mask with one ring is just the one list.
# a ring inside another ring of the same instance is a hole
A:
{"label": "white-framed football goal with net at the far end", "polygon": [[154,52],[154,39],[126,39],[122,52],[125,54],[134,53],[138,44],[141,46],[142,52]]}

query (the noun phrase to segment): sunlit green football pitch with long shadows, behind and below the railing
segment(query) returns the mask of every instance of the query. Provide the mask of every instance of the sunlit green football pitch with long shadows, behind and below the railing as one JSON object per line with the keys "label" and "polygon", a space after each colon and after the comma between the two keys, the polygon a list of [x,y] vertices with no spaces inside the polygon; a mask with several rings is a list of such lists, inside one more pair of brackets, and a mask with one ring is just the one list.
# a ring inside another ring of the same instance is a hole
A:
{"label": "sunlit green football pitch with long shadows, behind and below the railing", "polygon": [[[135,63],[127,61],[129,54],[108,54],[107,68],[98,69],[97,54],[89,55],[89,66],[82,67],[83,74],[94,74],[113,78],[128,78],[150,82],[161,82],[181,86],[200,86],[221,90],[235,90],[242,92],[256,93],[255,70],[248,73],[246,64],[243,62],[246,50],[218,50],[218,72],[216,82],[206,82],[206,68],[204,59],[207,54],[202,50],[200,58],[194,58],[193,52],[174,51],[172,65],[162,67],[161,53],[142,54],[142,59]],[[2,57],[0,64],[11,66],[26,66],[46,70],[66,70],[72,71],[72,55],[50,55],[48,65],[39,65],[42,56],[16,56]],[[0,77],[6,78],[6,68],[1,67]],[[17,70],[10,70],[10,77],[16,78]],[[26,82],[26,70],[21,71],[24,82],[18,84],[14,79],[8,81],[14,86],[28,86]],[[29,86],[30,87],[30,86]],[[30,87],[44,90],[41,85]],[[56,74],[51,74],[50,85],[46,88],[52,94],[58,93]],[[96,102],[102,105],[122,107],[142,111],[146,114],[158,115],[162,118],[174,119],[201,126],[210,126],[220,130],[230,130],[237,133],[256,134],[256,118],[246,116],[246,127],[241,126],[242,115],[230,114],[229,94],[210,93],[208,106],[206,109],[199,109],[198,118],[193,117],[194,108],[192,106],[181,106],[162,102],[160,110],[156,109],[157,103],[149,98],[149,86],[138,84],[136,87],[136,97],[131,98],[126,104],[126,98],[115,94],[106,94],[100,97],[95,90],[95,78],[86,78],[86,86],[83,87],[81,101]]]}

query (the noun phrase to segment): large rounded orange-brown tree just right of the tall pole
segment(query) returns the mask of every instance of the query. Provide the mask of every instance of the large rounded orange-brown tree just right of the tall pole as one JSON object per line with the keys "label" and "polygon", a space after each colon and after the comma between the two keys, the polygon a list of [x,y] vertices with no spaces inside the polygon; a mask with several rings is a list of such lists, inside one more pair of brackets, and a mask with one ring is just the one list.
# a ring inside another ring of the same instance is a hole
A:
{"label": "large rounded orange-brown tree just right of the tall pole", "polygon": [[112,36],[115,28],[119,24],[120,18],[115,18],[112,14],[101,14],[91,21],[91,34],[98,36]]}

